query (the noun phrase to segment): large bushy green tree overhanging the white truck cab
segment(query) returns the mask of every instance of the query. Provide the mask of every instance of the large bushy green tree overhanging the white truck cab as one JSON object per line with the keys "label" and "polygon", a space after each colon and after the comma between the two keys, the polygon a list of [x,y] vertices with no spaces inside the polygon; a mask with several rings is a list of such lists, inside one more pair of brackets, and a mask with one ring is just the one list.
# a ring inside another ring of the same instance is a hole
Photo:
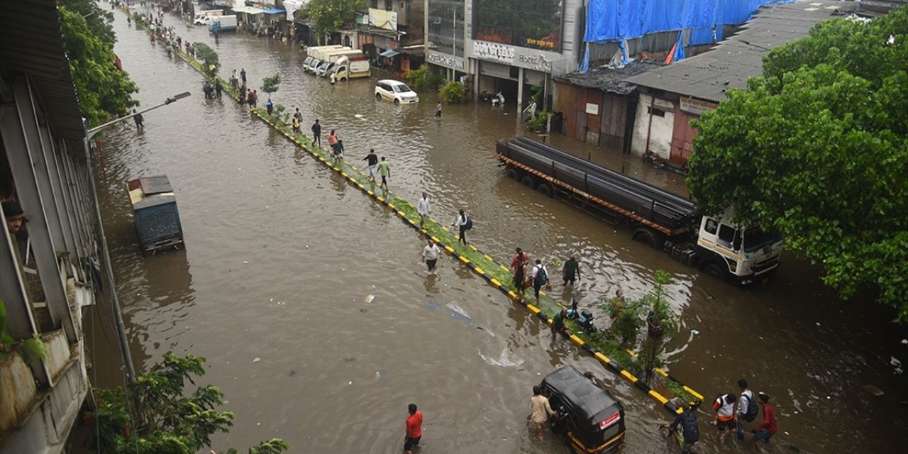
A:
{"label": "large bushy green tree overhanging the white truck cab", "polygon": [[695,126],[687,185],[706,211],[785,234],[847,298],[908,320],[908,8],[835,19],[771,51],[764,76]]}

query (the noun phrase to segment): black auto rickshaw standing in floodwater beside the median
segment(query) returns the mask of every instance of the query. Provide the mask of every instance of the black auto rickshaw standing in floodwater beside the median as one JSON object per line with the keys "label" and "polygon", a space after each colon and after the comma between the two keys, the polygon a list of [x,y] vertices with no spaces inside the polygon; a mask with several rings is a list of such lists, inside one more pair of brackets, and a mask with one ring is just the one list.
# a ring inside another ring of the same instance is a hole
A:
{"label": "black auto rickshaw standing in floodwater beside the median", "polygon": [[624,448],[624,406],[573,366],[542,379],[542,393],[556,415],[552,431],[582,454],[614,453]]}

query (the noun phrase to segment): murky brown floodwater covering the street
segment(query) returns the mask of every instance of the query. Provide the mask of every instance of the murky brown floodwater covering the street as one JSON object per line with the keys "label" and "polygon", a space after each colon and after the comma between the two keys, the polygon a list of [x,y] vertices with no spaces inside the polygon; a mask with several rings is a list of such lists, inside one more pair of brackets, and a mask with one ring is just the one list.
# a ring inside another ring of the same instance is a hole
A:
{"label": "murky brown floodwater covering the street", "polygon": [[[554,437],[538,442],[526,417],[532,385],[574,364],[624,403],[625,452],[677,452],[656,428],[668,413],[644,393],[568,341],[551,342],[528,311],[449,256],[427,276],[417,232],[231,99],[204,99],[201,74],[150,44],[122,13],[116,19],[116,52],[143,106],[192,92],[145,114],[144,133],[130,124],[105,134],[106,183],[97,175],[123,315],[137,370],[167,351],[208,359],[202,383],[220,386],[225,408],[237,414],[215,449],[279,437],[291,452],[399,452],[406,406],[415,402],[425,415],[424,454],[568,452]],[[672,272],[681,332],[667,349],[671,373],[707,400],[736,393],[741,377],[771,395],[779,433],[769,452],[905,446],[908,408],[900,402],[908,391],[890,361],[904,357],[906,335],[871,295],[838,301],[793,254],[765,287],[699,275],[632,242],[627,227],[504,178],[492,153],[496,141],[520,133],[512,112],[446,105],[437,121],[433,94],[420,94],[417,105],[377,103],[372,79],[331,86],[303,74],[304,55],[292,45],[243,33],[222,34],[214,45],[201,26],[175,15],[165,22],[184,40],[212,45],[222,76],[245,68],[255,88],[281,74],[272,99],[300,108],[303,131],[318,118],[323,135],[338,130],[349,161],[370,148],[387,156],[392,191],[410,201],[428,192],[442,221],[465,209],[476,225],[470,242],[498,262],[515,247],[545,262],[577,253],[584,279],[573,294],[581,305],[619,288],[637,298],[653,271]],[[553,140],[683,191],[674,173]],[[124,183],[154,174],[173,183],[186,250],[145,257]],[[553,296],[567,300],[572,293],[553,281]],[[120,380],[107,372],[106,380]],[[711,403],[698,418],[697,452],[755,452],[733,437],[716,442],[706,424]]]}

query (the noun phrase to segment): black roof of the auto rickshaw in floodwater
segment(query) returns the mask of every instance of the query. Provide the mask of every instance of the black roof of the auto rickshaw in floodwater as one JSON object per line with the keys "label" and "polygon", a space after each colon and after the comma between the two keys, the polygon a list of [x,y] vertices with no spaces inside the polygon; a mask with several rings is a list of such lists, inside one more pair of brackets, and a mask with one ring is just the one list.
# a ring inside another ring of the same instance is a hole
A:
{"label": "black roof of the auto rickshaw in floodwater", "polygon": [[605,411],[621,409],[621,403],[607,390],[597,387],[574,366],[564,366],[549,373],[542,383],[558,390],[562,400],[573,407],[574,413],[590,424],[598,423],[597,415]]}

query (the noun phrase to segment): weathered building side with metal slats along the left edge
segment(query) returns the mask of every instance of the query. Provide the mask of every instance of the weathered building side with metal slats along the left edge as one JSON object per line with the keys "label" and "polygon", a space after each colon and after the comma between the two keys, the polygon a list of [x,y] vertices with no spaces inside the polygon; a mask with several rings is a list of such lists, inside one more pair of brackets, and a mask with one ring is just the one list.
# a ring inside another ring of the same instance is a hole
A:
{"label": "weathered building side with metal slats along the left edge", "polygon": [[37,338],[0,355],[0,452],[64,452],[88,390],[83,314],[99,282],[85,129],[53,0],[0,6],[0,228],[5,334]]}

